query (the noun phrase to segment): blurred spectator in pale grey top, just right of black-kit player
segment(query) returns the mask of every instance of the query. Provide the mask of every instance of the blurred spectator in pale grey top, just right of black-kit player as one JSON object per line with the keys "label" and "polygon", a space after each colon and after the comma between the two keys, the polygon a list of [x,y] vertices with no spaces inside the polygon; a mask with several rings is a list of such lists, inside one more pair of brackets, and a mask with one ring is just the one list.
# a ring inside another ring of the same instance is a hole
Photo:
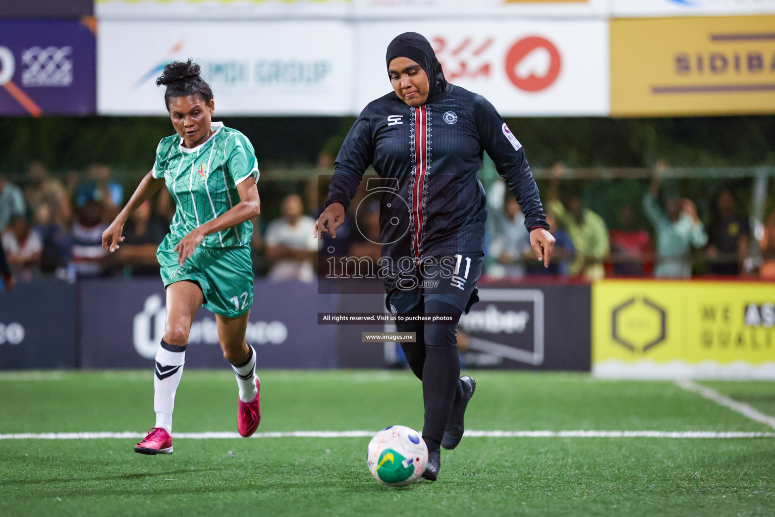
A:
{"label": "blurred spectator in pale grey top, just right of black-kit player", "polygon": [[[505,190],[503,216],[493,226],[493,235],[489,239],[487,254],[495,257],[495,262],[487,267],[487,274],[493,278],[518,278],[525,274],[523,257],[531,253],[530,234],[525,229],[525,214],[511,191]],[[555,243],[556,246],[556,243]],[[552,254],[554,258],[554,253]],[[535,258],[533,259],[535,261]],[[543,263],[539,264],[542,269]],[[551,266],[551,264],[549,264]]]}

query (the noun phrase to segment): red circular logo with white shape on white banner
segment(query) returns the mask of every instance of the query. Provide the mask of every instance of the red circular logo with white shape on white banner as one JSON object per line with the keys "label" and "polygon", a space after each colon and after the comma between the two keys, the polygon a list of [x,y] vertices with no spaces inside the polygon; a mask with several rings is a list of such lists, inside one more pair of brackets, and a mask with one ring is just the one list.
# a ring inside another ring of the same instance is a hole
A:
{"label": "red circular logo with white shape on white banner", "polygon": [[520,90],[541,91],[560,75],[560,52],[542,37],[523,38],[506,54],[506,74]]}

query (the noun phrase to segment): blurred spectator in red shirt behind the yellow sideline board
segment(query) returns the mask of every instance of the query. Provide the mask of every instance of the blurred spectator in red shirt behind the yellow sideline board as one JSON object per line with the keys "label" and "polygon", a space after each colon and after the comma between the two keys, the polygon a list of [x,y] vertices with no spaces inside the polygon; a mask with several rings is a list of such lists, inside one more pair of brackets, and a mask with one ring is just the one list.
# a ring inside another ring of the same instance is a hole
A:
{"label": "blurred spectator in red shirt behind the yellow sideline board", "polygon": [[651,236],[636,228],[629,204],[619,212],[619,227],[611,230],[611,274],[615,277],[642,277],[652,260]]}

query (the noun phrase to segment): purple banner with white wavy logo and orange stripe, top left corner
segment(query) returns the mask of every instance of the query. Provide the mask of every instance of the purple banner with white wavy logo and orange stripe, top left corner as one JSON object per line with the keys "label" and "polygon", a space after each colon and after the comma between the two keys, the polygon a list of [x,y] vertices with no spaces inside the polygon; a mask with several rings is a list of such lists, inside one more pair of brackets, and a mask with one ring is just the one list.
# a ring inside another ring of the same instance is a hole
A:
{"label": "purple banner with white wavy logo and orange stripe, top left corner", "polygon": [[88,26],[0,21],[0,115],[90,115],[95,96]]}

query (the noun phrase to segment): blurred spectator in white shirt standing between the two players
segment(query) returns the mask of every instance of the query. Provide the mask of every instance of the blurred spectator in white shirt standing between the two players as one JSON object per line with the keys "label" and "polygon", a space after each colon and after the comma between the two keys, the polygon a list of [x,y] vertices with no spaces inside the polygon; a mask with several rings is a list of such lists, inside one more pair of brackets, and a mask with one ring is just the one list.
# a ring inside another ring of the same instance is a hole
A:
{"label": "blurred spectator in white shirt standing between the two players", "polygon": [[267,260],[272,264],[269,277],[272,280],[312,281],[315,277],[313,260],[318,250],[315,219],[304,215],[298,194],[283,199],[282,214],[281,219],[270,222],[264,241]]}

